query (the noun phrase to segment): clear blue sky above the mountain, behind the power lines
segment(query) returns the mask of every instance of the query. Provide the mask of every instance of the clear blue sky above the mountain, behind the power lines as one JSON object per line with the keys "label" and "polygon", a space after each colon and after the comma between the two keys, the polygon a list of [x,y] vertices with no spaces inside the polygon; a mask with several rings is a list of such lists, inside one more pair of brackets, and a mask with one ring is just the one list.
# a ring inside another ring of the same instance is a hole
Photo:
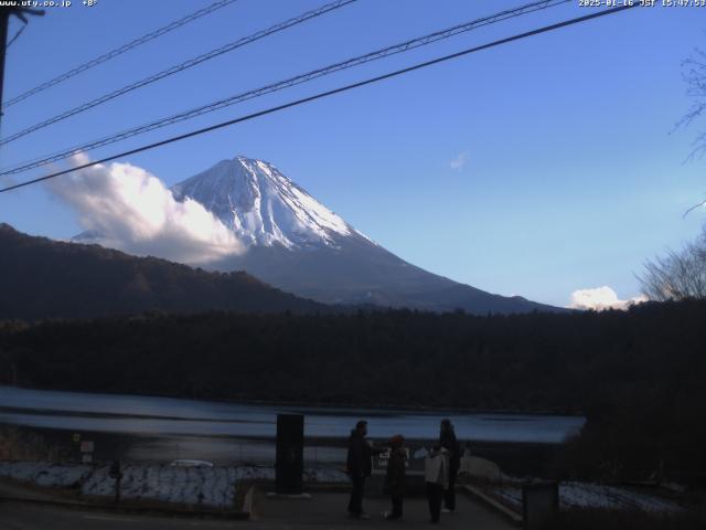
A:
{"label": "clear blue sky above the mountain, behind the power lines", "polygon": [[[32,19],[10,47],[6,99],[211,2],[73,3]],[[2,135],[321,3],[239,0],[8,108]],[[360,0],[2,146],[0,166],[522,3]],[[576,2],[494,24],[92,156],[588,12]],[[689,106],[682,61],[706,47],[705,15],[629,10],[124,161],[171,186],[235,155],[265,159],[434,273],[561,306],[574,290],[603,285],[633,297],[644,259],[694,239],[704,222],[700,211],[682,219],[706,192],[706,162],[685,163],[698,124],[673,129]],[[0,195],[0,221],[57,239],[81,231],[42,186]]]}

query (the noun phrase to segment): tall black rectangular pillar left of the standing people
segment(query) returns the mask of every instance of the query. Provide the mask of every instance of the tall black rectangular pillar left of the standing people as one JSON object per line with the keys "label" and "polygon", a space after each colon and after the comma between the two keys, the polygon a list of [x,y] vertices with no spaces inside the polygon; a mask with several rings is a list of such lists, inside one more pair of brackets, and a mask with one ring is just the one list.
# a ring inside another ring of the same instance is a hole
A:
{"label": "tall black rectangular pillar left of the standing people", "polygon": [[301,494],[303,464],[304,416],[302,414],[277,414],[276,492]]}

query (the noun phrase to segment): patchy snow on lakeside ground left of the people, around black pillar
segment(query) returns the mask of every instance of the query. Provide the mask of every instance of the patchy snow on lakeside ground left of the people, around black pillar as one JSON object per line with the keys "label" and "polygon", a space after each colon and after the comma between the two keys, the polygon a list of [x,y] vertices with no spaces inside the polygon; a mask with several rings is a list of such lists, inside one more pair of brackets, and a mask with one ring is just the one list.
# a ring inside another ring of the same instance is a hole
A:
{"label": "patchy snow on lakeside ground left of the people, around black pillar", "polygon": [[[0,477],[39,486],[71,487],[81,485],[81,494],[89,497],[115,496],[110,466],[58,466],[46,462],[0,462]],[[307,483],[341,483],[347,476],[339,469],[304,469]],[[122,466],[121,498],[157,500],[208,508],[232,508],[238,483],[275,480],[275,469],[261,466],[181,467],[168,464]]]}

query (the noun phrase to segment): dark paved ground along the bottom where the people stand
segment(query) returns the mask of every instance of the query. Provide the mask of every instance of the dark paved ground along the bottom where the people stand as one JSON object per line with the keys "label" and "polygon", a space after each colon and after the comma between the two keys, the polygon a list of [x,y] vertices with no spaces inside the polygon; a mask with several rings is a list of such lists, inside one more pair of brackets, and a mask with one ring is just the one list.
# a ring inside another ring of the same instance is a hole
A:
{"label": "dark paved ground along the bottom where the people stand", "polygon": [[379,515],[388,508],[386,499],[366,499],[371,520],[357,521],[345,517],[346,496],[314,494],[310,500],[259,498],[250,521],[204,520],[178,517],[133,516],[103,511],[82,511],[24,502],[0,502],[1,530],[185,530],[185,529],[331,529],[360,530],[392,528],[446,528],[473,530],[516,530],[502,516],[484,506],[459,496],[457,513],[443,515],[441,523],[428,522],[426,500],[408,499],[405,520],[387,522]]}

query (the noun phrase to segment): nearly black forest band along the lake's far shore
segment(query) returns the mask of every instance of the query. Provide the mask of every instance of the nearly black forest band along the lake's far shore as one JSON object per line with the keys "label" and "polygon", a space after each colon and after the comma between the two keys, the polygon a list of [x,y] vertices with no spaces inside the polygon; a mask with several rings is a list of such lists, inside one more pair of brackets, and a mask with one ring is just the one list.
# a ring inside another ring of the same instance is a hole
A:
{"label": "nearly black forest band along the lake's far shore", "polygon": [[4,382],[28,386],[571,413],[706,403],[705,321],[698,301],[492,317],[148,316],[6,325],[0,353],[17,374]]}

